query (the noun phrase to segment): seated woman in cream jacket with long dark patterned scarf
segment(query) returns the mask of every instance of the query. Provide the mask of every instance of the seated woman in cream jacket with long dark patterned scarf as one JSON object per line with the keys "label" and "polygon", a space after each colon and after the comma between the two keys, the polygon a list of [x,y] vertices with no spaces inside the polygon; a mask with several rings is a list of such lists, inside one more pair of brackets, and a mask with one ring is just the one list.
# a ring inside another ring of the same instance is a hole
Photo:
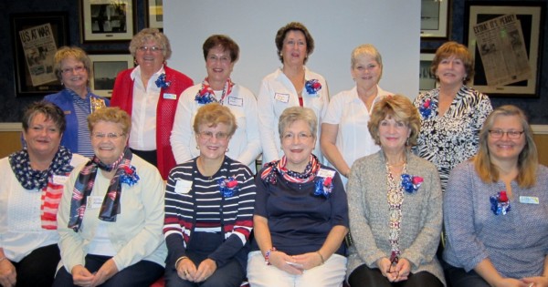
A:
{"label": "seated woman in cream jacket with long dark patterned scarf", "polygon": [[95,156],[75,169],[59,206],[54,286],[148,286],[163,274],[163,179],[126,146],[130,116],[88,117]]}

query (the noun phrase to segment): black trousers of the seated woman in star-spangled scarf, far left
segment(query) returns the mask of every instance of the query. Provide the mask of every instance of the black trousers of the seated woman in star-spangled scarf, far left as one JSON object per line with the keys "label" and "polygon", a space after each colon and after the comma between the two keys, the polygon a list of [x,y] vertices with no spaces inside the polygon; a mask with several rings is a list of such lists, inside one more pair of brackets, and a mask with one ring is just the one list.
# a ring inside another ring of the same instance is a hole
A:
{"label": "black trousers of the seated woman in star-spangled scarf, far left", "polygon": [[57,244],[38,248],[23,260],[12,262],[16,267],[17,287],[51,286],[61,257]]}

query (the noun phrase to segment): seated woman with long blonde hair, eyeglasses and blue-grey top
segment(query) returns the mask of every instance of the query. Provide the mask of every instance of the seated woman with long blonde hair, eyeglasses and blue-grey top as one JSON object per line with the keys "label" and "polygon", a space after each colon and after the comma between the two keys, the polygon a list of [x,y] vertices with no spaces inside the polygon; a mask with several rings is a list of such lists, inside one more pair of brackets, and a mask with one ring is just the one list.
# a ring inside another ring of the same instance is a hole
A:
{"label": "seated woman with long blonde hair, eyeglasses and blue-grey top", "polygon": [[451,171],[444,260],[453,287],[548,286],[548,169],[520,108],[495,108],[478,154]]}

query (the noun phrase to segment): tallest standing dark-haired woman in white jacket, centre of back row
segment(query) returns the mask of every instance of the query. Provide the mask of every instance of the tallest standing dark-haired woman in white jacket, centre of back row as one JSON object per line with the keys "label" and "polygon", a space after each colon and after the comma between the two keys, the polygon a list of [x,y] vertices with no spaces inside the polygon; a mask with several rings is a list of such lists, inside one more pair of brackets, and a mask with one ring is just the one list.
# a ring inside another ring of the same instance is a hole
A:
{"label": "tallest standing dark-haired woman in white jacket, centre of back row", "polygon": [[[325,79],[304,66],[314,50],[314,39],[308,29],[299,22],[291,22],[279,28],[275,41],[283,67],[263,78],[257,100],[263,163],[283,156],[277,127],[284,109],[311,108],[320,125],[329,103]],[[320,126],[316,130],[318,133],[314,136],[319,138]],[[322,161],[320,145],[316,145],[312,153]]]}

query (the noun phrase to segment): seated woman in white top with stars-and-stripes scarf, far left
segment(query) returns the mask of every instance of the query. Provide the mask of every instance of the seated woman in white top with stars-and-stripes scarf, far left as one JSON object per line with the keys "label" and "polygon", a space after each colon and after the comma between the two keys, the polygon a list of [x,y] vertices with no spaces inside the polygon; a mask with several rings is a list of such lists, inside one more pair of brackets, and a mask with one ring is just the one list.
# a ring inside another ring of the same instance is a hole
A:
{"label": "seated woman in white top with stars-and-stripes scarf, far left", "polygon": [[22,121],[26,147],[0,159],[0,285],[51,286],[63,183],[88,159],[59,146],[66,124],[57,106],[31,104]]}

